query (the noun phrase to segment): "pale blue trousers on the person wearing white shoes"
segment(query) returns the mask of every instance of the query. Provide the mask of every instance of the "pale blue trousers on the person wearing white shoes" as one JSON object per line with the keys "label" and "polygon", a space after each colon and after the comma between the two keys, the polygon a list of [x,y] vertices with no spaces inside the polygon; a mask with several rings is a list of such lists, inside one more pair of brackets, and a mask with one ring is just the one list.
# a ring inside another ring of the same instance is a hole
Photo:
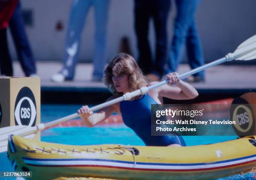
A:
{"label": "pale blue trousers on the person wearing white shoes", "polygon": [[110,0],[74,0],[69,15],[69,27],[66,37],[66,46],[63,59],[62,74],[66,79],[74,78],[74,71],[78,61],[78,52],[84,20],[90,9],[94,6],[95,16],[95,53],[93,58],[95,78],[102,78],[106,63],[106,28],[108,20],[108,7]]}

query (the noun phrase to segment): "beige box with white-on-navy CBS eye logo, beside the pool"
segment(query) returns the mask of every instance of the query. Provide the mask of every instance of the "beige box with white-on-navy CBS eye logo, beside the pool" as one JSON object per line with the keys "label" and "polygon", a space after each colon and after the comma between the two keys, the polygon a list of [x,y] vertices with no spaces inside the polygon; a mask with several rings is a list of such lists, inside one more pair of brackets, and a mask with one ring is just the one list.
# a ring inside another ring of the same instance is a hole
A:
{"label": "beige box with white-on-navy CBS eye logo, beside the pool", "polygon": [[[0,128],[40,123],[40,78],[0,77]],[[33,138],[40,140],[40,132]]]}

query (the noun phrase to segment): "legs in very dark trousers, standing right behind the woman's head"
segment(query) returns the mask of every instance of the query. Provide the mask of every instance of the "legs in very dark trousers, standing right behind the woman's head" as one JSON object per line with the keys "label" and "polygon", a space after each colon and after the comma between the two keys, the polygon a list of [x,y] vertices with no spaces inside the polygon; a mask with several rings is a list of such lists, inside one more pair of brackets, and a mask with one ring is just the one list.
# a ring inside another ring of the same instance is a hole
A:
{"label": "legs in very dark trousers, standing right behind the woman's head", "polygon": [[[135,31],[138,46],[138,65],[146,74],[148,81],[159,81],[164,73],[167,58],[167,32],[170,0],[135,0]],[[155,61],[151,55],[148,42],[148,25],[150,18],[154,20],[156,32]]]}

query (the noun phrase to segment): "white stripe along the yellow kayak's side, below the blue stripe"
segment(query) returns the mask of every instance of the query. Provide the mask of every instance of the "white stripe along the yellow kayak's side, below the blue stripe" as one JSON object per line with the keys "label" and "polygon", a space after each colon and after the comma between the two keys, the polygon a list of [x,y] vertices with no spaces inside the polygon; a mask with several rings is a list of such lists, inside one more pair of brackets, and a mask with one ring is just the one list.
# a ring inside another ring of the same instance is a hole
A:
{"label": "white stripe along the yellow kayak's side, below the blue stripe", "polygon": [[135,166],[133,164],[125,163],[125,162],[105,162],[105,161],[84,161],[84,160],[75,160],[75,161],[38,161],[38,160],[25,160],[25,163],[32,164],[32,165],[42,165],[42,166],[54,166],[54,165],[101,165],[101,166],[115,166],[115,167],[130,167],[130,168],[141,168],[141,169],[164,169],[164,170],[184,170],[184,169],[206,169],[206,168],[212,168],[212,167],[222,167],[222,166],[228,166],[228,165],[235,165],[238,163],[248,162],[256,160],[256,157],[251,157],[243,160],[236,160],[232,162],[223,162],[218,164],[210,164],[210,165],[140,165],[136,164]]}

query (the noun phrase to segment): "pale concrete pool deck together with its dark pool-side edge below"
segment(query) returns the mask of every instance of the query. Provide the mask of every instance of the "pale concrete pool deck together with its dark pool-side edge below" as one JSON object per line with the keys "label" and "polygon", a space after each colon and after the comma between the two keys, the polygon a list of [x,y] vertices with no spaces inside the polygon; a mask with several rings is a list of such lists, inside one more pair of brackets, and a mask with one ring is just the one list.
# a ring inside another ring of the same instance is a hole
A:
{"label": "pale concrete pool deck together with its dark pool-side edge below", "polygon": [[[55,104],[99,104],[111,96],[103,82],[93,82],[93,65],[79,63],[74,81],[55,83],[51,75],[61,69],[60,62],[37,62],[38,75],[41,77],[41,103]],[[182,64],[178,73],[189,71]],[[24,76],[20,64],[14,62],[14,75]],[[164,99],[166,104],[197,103],[225,98],[239,97],[247,92],[256,92],[256,65],[219,65],[206,70],[204,83],[192,84],[199,96],[192,100],[175,101]]]}

